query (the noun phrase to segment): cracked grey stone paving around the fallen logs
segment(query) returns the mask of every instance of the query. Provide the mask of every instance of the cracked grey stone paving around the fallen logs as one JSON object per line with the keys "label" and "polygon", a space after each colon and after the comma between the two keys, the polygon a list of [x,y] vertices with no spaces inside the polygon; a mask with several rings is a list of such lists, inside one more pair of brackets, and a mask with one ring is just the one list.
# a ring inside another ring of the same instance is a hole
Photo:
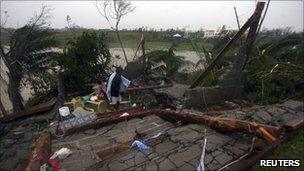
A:
{"label": "cracked grey stone paving around the fallen logs", "polygon": [[[287,101],[282,104],[237,109],[217,113],[230,117],[282,125],[303,117],[303,103]],[[192,111],[195,112],[195,111]],[[197,114],[201,114],[197,112]],[[214,113],[210,112],[210,115]],[[23,170],[31,144],[49,123],[16,122],[15,126],[0,139],[0,170]],[[195,170],[201,155],[206,129],[207,147],[205,164],[207,170],[216,170],[248,151],[252,137],[249,135],[219,133],[204,125],[176,126],[157,116],[135,118],[127,122],[109,125],[98,130],[87,130],[61,139],[52,140],[52,152],[68,147],[73,154],[62,161],[66,170]],[[109,147],[132,142],[135,130],[142,135],[153,135],[160,130],[168,132],[168,138],[152,146],[149,151],[129,149],[113,153],[100,161],[96,152]]]}

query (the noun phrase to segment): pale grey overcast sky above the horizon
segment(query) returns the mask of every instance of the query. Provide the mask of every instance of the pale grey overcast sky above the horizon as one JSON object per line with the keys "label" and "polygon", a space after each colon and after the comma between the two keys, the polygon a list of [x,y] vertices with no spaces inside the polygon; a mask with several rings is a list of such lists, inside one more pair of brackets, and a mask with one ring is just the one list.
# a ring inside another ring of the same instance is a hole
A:
{"label": "pale grey overcast sky above the horizon", "polygon": [[[6,27],[20,27],[42,4],[51,7],[51,27],[63,28],[66,16],[85,28],[109,28],[99,15],[95,1],[1,1],[1,18],[8,11]],[[243,24],[252,14],[256,1],[132,1],[136,10],[127,15],[120,28],[201,28],[216,29],[222,25],[237,27],[235,6]],[[263,23],[268,29],[291,27],[303,31],[303,1],[271,1]]]}

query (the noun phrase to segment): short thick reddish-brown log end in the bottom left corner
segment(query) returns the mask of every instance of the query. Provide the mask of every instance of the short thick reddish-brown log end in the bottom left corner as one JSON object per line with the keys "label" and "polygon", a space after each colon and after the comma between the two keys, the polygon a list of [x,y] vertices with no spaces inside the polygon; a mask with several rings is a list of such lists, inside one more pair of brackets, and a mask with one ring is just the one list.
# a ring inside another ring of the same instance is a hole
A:
{"label": "short thick reddish-brown log end in the bottom left corner", "polygon": [[47,163],[51,154],[51,137],[50,133],[41,134],[35,142],[35,147],[29,155],[29,162],[26,171],[40,170],[40,167]]}

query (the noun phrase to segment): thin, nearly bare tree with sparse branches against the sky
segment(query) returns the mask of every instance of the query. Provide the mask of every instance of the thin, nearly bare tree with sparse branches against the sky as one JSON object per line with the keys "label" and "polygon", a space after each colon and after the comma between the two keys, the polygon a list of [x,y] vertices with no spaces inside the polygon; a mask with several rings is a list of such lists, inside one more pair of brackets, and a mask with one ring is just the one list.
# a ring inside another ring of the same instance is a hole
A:
{"label": "thin, nearly bare tree with sparse branches against the sky", "polygon": [[106,0],[100,3],[96,1],[96,8],[99,14],[107,20],[110,28],[115,31],[116,37],[124,54],[126,64],[128,65],[127,54],[119,34],[119,24],[124,16],[135,10],[135,7],[132,6],[131,2],[126,0]]}

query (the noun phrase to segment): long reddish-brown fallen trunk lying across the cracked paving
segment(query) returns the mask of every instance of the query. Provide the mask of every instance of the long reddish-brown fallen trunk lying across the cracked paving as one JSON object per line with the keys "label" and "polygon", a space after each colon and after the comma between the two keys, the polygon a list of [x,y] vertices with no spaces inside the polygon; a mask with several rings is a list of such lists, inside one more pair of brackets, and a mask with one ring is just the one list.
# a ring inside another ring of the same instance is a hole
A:
{"label": "long reddish-brown fallen trunk lying across the cracked paving", "polygon": [[271,125],[257,124],[250,121],[235,120],[230,118],[217,118],[208,115],[196,115],[193,113],[176,112],[168,110],[145,110],[130,112],[128,116],[121,117],[121,113],[113,113],[113,115],[106,115],[106,117],[99,117],[95,122],[84,125],[72,127],[63,130],[65,135],[81,132],[86,129],[97,129],[105,125],[125,121],[136,117],[144,117],[148,115],[157,115],[167,120],[181,120],[189,123],[206,124],[210,128],[219,131],[235,131],[246,134],[257,134],[264,138],[268,143],[272,144],[284,132],[282,127]]}

